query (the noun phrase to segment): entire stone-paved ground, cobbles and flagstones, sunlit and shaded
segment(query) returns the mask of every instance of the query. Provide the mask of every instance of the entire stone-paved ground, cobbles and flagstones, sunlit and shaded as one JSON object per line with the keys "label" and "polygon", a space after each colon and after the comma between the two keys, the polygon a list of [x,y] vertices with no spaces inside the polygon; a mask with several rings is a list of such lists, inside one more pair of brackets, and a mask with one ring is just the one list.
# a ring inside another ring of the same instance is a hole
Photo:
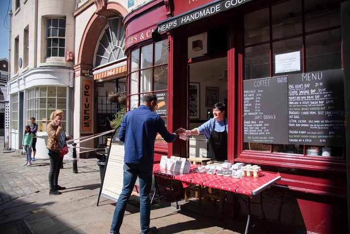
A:
{"label": "entire stone-paved ground, cobbles and flagstones, sunlit and shaded", "polygon": [[[1,234],[109,233],[115,201],[98,196],[101,181],[97,159],[78,161],[78,173],[73,173],[72,161],[64,160],[58,182],[67,189],[58,196],[49,196],[49,160],[37,159],[31,166],[23,166],[24,161],[25,156],[18,152],[0,150]],[[158,228],[157,234],[244,232],[245,222],[219,220],[218,207],[204,211],[195,200],[179,201],[181,209],[170,204],[163,200],[152,205],[151,226]],[[260,231],[255,228],[249,233],[260,234]],[[137,204],[127,205],[120,232],[140,233]]]}

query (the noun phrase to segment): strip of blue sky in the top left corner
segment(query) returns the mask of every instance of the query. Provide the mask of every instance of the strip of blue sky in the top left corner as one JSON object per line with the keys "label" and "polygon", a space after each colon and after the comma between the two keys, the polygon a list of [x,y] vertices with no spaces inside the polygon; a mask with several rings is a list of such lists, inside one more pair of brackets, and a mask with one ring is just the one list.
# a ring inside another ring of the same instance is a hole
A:
{"label": "strip of blue sky in the top left corner", "polygon": [[1,0],[0,7],[0,58],[8,59],[8,30],[11,0]]}

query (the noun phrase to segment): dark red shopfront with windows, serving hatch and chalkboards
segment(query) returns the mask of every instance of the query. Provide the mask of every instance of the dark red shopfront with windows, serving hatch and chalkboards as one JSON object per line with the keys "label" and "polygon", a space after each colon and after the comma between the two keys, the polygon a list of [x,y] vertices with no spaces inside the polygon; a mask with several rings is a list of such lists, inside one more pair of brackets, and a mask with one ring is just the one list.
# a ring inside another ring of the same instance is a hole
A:
{"label": "dark red shopfront with windows, serving hatch and chalkboards", "polygon": [[[282,180],[263,194],[273,230],[330,234],[347,228],[341,1],[155,0],[124,18],[127,108],[143,93],[169,131],[204,123],[227,104],[228,161]],[[203,157],[201,139],[156,141],[161,155]],[[348,140],[349,141],[349,140]],[[198,146],[199,145],[199,146]],[[194,150],[194,151],[193,151]],[[225,213],[245,204],[228,197]],[[258,206],[253,216],[261,217]],[[243,216],[244,218],[244,216]]]}

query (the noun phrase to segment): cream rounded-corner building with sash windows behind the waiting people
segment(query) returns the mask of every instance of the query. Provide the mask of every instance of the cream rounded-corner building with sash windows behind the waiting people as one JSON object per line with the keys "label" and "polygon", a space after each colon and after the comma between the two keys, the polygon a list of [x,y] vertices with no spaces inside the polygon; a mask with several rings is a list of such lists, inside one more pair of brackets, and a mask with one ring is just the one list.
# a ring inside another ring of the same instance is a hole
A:
{"label": "cream rounded-corner building with sash windows behind the waiting people", "polygon": [[46,126],[55,109],[65,112],[72,134],[74,70],[67,52],[74,51],[72,1],[12,1],[11,74],[8,80],[9,148],[20,149],[25,125],[35,117],[36,158],[48,158]]}

